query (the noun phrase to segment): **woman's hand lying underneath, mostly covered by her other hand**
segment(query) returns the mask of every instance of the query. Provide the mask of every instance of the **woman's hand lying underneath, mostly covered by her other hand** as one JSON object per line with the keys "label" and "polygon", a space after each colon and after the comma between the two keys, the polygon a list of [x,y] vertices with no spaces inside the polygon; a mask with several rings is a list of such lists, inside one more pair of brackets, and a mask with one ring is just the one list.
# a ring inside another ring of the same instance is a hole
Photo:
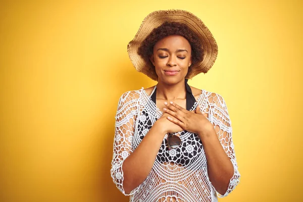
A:
{"label": "woman's hand lying underneath, mostly covered by her other hand", "polygon": [[154,125],[158,126],[162,132],[166,133],[175,133],[182,131],[182,127],[179,125],[169,121],[167,117],[169,116],[168,113],[163,113],[160,119],[158,119]]}

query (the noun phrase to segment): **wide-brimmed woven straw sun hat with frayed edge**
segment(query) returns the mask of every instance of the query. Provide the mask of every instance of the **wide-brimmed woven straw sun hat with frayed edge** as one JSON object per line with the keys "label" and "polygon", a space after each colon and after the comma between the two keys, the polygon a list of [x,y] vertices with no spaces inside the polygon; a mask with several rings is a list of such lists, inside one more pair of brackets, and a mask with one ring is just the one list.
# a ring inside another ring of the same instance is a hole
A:
{"label": "wide-brimmed woven straw sun hat with frayed edge", "polygon": [[191,79],[195,75],[203,72],[207,73],[215,63],[218,55],[218,45],[210,30],[195,15],[184,10],[165,10],[155,11],[148,14],[141,23],[138,32],[133,40],[127,45],[128,56],[138,72],[146,74],[153,80],[158,80],[155,67],[146,63],[144,59],[138,55],[137,51],[141,42],[149,35],[154,28],[159,27],[165,21],[179,22],[186,24],[201,40],[204,49],[203,61],[192,65],[191,72],[187,75],[187,79]]}

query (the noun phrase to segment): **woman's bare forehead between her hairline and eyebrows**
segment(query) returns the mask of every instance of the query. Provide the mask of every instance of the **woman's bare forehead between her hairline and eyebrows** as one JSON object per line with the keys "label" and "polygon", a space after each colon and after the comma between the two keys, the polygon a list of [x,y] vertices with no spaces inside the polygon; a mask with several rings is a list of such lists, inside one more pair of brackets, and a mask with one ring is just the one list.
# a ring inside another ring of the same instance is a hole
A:
{"label": "woman's bare forehead between her hairline and eyebrows", "polygon": [[188,40],[180,35],[169,35],[159,41],[154,46],[155,48],[168,48],[168,49],[187,49],[190,51],[190,44]]}

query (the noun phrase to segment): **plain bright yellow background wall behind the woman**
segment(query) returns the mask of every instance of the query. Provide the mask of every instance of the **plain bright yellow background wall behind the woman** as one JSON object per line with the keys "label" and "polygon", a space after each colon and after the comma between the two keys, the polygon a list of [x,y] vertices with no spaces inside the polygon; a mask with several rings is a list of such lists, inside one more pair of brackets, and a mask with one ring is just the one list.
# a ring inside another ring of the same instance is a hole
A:
{"label": "plain bright yellow background wall behind the woman", "polygon": [[110,176],[120,95],[156,84],[127,55],[144,17],[184,9],[219,55],[240,184],[219,201],[302,201],[302,1],[0,3],[0,200],[128,201]]}

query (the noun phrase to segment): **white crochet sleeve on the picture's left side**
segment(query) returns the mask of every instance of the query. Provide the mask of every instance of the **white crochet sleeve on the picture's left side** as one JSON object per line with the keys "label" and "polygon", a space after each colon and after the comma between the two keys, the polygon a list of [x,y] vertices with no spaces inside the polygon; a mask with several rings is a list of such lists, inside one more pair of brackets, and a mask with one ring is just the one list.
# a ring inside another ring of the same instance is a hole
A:
{"label": "white crochet sleeve on the picture's left side", "polygon": [[121,95],[117,107],[115,136],[113,145],[113,159],[111,176],[117,188],[124,195],[132,195],[139,188],[136,187],[129,194],[126,194],[123,188],[123,162],[132,153],[132,138],[135,131],[135,122],[137,117],[137,99],[135,91],[128,91]]}

